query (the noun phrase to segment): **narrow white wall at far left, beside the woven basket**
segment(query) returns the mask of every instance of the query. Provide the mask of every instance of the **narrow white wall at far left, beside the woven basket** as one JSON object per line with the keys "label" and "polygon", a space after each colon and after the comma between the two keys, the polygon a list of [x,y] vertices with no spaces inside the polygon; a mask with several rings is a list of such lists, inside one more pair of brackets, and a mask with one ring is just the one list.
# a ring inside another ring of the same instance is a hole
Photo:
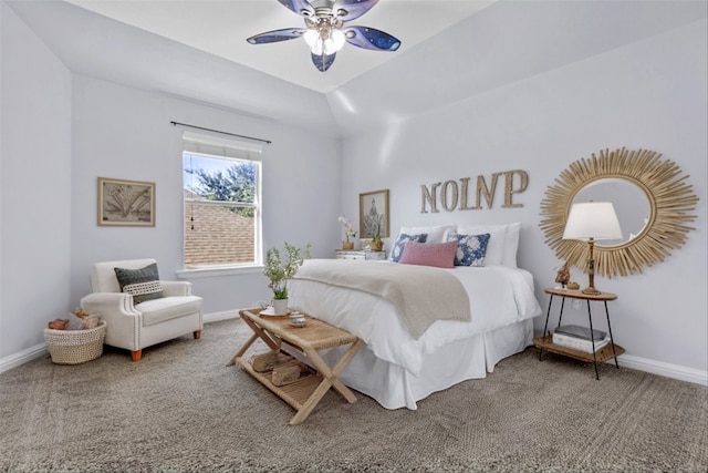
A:
{"label": "narrow white wall at far left, beside the woven basket", "polygon": [[0,359],[70,309],[71,73],[4,3]]}

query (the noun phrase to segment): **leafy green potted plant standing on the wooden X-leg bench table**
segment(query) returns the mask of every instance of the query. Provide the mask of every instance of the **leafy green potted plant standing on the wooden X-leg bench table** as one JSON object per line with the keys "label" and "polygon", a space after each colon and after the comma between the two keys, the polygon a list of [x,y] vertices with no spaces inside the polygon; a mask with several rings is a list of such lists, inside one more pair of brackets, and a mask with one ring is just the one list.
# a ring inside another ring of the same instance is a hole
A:
{"label": "leafy green potted plant standing on the wooden X-leg bench table", "polygon": [[[292,279],[302,266],[303,258],[310,257],[311,244],[308,243],[304,251],[285,241],[285,254],[281,255],[278,248],[270,248],[266,255],[266,268],[263,274],[270,279],[269,288],[273,291],[273,311],[277,315],[288,312],[288,280]],[[304,256],[300,254],[304,253]]]}

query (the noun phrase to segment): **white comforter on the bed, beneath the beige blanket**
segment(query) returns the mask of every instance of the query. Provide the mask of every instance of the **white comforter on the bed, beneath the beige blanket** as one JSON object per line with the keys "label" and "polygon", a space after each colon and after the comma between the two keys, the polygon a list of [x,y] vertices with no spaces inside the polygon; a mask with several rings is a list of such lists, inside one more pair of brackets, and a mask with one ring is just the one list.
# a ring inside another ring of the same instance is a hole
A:
{"label": "white comforter on the bed, beneath the beige blanket", "polygon": [[[352,261],[353,271],[356,265]],[[377,358],[398,364],[414,376],[420,372],[424,354],[438,347],[541,313],[533,294],[533,278],[524,269],[487,266],[440,271],[452,274],[465,286],[472,320],[438,320],[418,340],[407,331],[392,302],[360,290],[293,279],[289,287],[290,307],[356,335]]]}

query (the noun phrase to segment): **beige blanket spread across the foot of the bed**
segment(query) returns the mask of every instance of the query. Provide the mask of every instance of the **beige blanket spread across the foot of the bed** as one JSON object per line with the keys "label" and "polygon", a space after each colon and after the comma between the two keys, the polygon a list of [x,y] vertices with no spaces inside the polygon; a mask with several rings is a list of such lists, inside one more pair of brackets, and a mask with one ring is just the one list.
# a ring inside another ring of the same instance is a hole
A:
{"label": "beige blanket spread across the foot of the bed", "polygon": [[471,320],[462,284],[449,273],[427,266],[388,261],[306,259],[294,279],[309,279],[362,290],[389,300],[417,340],[436,320]]}

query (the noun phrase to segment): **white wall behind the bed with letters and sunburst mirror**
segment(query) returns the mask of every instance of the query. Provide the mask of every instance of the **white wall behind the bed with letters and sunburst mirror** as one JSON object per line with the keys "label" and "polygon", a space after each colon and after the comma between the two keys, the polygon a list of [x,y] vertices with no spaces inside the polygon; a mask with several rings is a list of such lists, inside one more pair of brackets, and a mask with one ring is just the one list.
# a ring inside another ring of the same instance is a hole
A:
{"label": "white wall behind the bed with letters and sunburst mirror", "polygon": [[[519,264],[534,275],[537,295],[553,286],[559,261],[539,228],[540,202],[571,162],[603,148],[648,148],[678,163],[700,202],[686,245],[643,275],[596,278],[620,298],[610,306],[615,339],[627,362],[667,363],[705,379],[706,313],[706,21],[469,96],[377,133],[344,142],[344,212],[356,215],[357,195],[391,189],[392,233],[400,225],[448,222],[522,222]],[[391,71],[389,71],[391,72]],[[523,208],[420,213],[420,185],[524,169],[529,187],[514,196]],[[391,239],[388,240],[391,245]],[[573,278],[586,279],[580,270]],[[596,326],[606,327],[597,307]],[[586,322],[585,311],[564,321]],[[543,317],[535,320],[542,330]],[[691,371],[693,370],[693,371]]]}

